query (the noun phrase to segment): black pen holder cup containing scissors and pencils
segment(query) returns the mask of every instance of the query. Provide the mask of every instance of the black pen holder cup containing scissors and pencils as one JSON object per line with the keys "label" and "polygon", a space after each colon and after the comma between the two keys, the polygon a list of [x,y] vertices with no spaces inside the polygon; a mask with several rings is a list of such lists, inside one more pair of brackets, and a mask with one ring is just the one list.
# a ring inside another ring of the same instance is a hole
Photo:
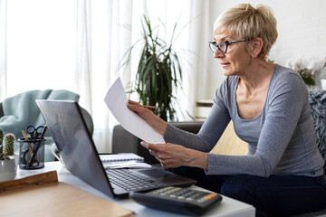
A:
{"label": "black pen holder cup containing scissors and pencils", "polygon": [[44,143],[46,139],[18,138],[19,168],[30,170],[44,167]]}

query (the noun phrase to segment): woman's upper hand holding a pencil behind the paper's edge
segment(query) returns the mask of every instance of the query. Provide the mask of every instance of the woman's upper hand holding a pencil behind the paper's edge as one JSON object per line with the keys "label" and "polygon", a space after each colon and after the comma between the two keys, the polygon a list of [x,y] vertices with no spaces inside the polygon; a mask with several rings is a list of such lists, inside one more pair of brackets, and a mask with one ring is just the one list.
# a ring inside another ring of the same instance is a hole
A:
{"label": "woman's upper hand holding a pencil behind the paper's edge", "polygon": [[168,127],[168,123],[166,121],[156,116],[151,110],[142,107],[138,102],[130,99],[128,100],[127,107],[139,115],[140,118],[143,118],[150,127],[164,137],[165,131]]}

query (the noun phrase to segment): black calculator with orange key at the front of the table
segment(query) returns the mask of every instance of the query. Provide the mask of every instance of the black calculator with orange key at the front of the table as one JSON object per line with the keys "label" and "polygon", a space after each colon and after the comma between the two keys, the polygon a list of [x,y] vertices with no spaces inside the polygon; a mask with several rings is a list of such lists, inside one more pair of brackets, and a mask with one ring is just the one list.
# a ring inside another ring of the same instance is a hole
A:
{"label": "black calculator with orange key at the front of the table", "polygon": [[129,193],[129,197],[147,207],[187,215],[202,215],[221,203],[222,196],[190,188],[168,186],[148,193]]}

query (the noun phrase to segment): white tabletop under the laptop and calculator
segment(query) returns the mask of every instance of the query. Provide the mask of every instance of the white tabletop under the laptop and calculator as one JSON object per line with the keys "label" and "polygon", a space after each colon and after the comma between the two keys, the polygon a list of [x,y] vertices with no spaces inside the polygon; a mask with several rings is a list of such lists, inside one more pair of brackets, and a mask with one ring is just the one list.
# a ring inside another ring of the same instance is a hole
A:
{"label": "white tabletop under the laptop and calculator", "polygon": [[[111,199],[104,193],[101,193],[97,189],[91,187],[91,185],[84,183],[82,180],[77,178],[76,176],[72,175],[69,171],[67,171],[64,167],[62,167],[61,163],[58,161],[55,162],[46,162],[44,168],[37,169],[37,170],[21,170],[17,169],[16,179],[23,178],[28,175],[36,175],[41,174],[49,171],[56,170],[58,173],[58,179],[60,182],[64,182],[66,184],[71,184],[75,187],[78,187],[86,192],[93,193],[98,195],[104,199],[110,200],[112,202],[119,203],[120,205],[128,208],[137,213],[137,216],[142,217],[152,217],[152,216],[182,216],[171,212],[162,212],[158,210],[149,209],[145,206],[140,205],[139,203],[133,202],[131,199]],[[197,186],[193,186],[194,189],[201,189]],[[203,189],[201,189],[203,190]],[[218,204],[215,208],[205,213],[204,216],[227,216],[227,217],[253,217],[255,213],[254,207],[252,205],[238,202],[232,198],[223,196],[222,203]]]}

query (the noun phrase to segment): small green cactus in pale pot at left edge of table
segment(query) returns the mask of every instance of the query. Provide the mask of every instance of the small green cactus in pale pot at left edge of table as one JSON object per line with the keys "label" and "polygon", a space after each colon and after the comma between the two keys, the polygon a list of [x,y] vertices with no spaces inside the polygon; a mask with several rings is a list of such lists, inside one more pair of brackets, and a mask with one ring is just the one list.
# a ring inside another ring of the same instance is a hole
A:
{"label": "small green cactus in pale pot at left edge of table", "polygon": [[14,134],[5,135],[4,140],[3,135],[3,129],[0,127],[0,182],[14,179],[17,168],[14,159]]}

